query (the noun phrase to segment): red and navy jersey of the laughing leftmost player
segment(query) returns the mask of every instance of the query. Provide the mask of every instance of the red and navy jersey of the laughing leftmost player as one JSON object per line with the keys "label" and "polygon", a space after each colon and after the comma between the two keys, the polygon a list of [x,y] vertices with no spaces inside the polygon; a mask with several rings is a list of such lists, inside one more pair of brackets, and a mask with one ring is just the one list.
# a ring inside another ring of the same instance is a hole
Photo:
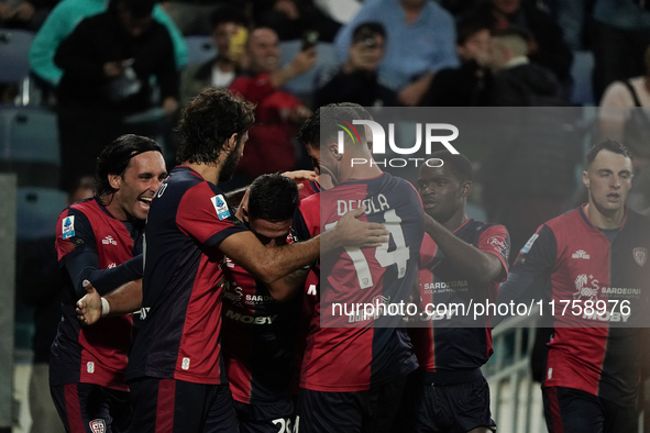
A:
{"label": "red and navy jersey of the laughing leftmost player", "polygon": [[81,326],[75,313],[77,300],[85,295],[76,289],[81,277],[70,275],[75,273],[68,268],[74,260],[93,269],[118,267],[142,253],[143,226],[142,222],[119,221],[95,198],[70,206],[58,216],[56,251],[66,287],[63,319],[49,357],[52,385],[82,382],[128,390],[124,371],[132,315]]}

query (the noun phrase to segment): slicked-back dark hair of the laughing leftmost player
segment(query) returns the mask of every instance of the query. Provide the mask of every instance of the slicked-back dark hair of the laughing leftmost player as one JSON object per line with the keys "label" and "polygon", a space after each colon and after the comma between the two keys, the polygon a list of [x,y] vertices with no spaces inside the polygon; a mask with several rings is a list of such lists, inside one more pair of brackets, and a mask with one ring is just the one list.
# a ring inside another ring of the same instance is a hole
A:
{"label": "slicked-back dark hair of the laughing leftmost player", "polygon": [[109,175],[119,175],[123,178],[126,168],[131,165],[131,158],[145,152],[159,152],[163,154],[158,143],[134,134],[119,136],[106,146],[97,158],[95,196],[101,198],[117,192],[118,190],[111,187],[108,179]]}

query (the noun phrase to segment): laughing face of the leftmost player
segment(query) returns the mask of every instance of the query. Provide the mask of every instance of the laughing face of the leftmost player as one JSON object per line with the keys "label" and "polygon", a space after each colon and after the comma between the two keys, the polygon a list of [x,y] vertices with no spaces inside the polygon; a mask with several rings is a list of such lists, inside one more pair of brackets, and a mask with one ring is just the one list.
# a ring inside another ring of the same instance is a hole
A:
{"label": "laughing face of the leftmost player", "polygon": [[132,157],[123,176],[109,175],[111,187],[118,190],[109,210],[118,220],[146,220],[151,200],[165,177],[165,159],[159,152]]}

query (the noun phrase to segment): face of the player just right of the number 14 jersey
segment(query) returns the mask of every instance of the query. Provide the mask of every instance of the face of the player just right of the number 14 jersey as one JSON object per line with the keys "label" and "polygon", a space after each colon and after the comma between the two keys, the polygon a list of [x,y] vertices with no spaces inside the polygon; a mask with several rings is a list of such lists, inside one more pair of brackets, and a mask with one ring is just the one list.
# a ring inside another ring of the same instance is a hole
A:
{"label": "face of the player just right of the number 14 jersey", "polygon": [[448,164],[442,167],[423,165],[418,177],[418,191],[425,212],[444,224],[459,211],[464,213],[465,199],[470,195],[471,181],[460,181],[453,176]]}

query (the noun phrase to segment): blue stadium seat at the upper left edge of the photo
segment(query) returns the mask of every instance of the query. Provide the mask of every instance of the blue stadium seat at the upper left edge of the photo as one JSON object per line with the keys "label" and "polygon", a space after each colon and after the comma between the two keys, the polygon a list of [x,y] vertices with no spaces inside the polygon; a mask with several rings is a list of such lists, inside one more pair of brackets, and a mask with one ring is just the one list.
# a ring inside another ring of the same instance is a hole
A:
{"label": "blue stadium seat at the upper left edge of the photo", "polygon": [[27,54],[34,34],[23,30],[0,30],[0,82],[21,82],[30,74]]}

